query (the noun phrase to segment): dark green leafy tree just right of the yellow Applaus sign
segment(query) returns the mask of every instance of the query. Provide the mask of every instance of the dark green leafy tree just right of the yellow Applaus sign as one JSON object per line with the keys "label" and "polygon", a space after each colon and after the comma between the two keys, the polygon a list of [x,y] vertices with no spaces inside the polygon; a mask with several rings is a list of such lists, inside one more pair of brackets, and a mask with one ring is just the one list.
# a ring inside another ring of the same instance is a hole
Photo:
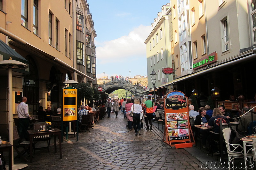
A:
{"label": "dark green leafy tree just right of the yellow Applaus sign", "polygon": [[93,100],[94,90],[88,83],[80,83],[76,84],[73,87],[77,89],[77,100],[84,101],[85,100]]}

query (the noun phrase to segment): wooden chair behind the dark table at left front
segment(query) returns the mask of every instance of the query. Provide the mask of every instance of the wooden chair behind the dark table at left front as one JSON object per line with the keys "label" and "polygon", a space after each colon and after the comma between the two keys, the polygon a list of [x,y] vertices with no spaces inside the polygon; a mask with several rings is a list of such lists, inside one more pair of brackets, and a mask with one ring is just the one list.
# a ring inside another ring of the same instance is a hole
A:
{"label": "wooden chair behind the dark table at left front", "polygon": [[[40,126],[42,125],[47,129],[46,123],[45,122],[38,122],[33,124],[33,129],[34,130],[40,130]],[[34,141],[47,141],[47,146],[46,147],[40,147],[40,148],[35,148],[35,150],[41,150],[41,149],[48,149],[48,152],[50,152],[49,147],[50,147],[50,142],[51,142],[51,137],[49,135],[43,135],[43,136],[36,136],[33,139]]]}

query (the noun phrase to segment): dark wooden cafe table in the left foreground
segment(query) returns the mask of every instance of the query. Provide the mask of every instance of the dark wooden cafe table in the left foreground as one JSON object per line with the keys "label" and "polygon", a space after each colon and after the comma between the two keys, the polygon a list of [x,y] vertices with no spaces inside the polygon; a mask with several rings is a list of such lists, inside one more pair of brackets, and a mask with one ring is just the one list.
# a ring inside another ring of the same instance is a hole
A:
{"label": "dark wooden cafe table in the left foreground", "polygon": [[32,158],[33,158],[33,139],[36,136],[43,136],[43,135],[54,135],[54,153],[57,153],[57,144],[56,144],[56,136],[59,137],[59,147],[60,147],[60,159],[62,158],[61,154],[61,130],[54,128],[52,131],[45,130],[43,132],[39,132],[38,130],[28,130],[29,134],[29,139],[30,139],[30,163],[32,163]]}

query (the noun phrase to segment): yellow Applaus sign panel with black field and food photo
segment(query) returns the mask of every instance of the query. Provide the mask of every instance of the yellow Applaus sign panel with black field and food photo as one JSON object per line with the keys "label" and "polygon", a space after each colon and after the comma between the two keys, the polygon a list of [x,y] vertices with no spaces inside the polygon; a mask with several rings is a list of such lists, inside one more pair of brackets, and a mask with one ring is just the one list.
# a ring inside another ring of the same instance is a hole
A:
{"label": "yellow Applaus sign panel with black field and food photo", "polygon": [[74,87],[67,87],[63,89],[63,121],[77,120],[77,89]]}

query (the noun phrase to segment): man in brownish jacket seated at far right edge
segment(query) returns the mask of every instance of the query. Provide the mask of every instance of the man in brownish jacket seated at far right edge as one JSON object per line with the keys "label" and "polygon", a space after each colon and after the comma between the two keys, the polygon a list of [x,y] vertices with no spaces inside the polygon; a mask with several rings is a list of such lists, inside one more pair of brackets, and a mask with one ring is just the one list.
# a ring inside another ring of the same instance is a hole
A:
{"label": "man in brownish jacket seated at far right edge", "polygon": [[[251,109],[250,107],[245,106],[242,109],[243,114],[248,112],[250,109]],[[253,121],[256,121],[256,115],[252,112],[248,112],[246,113],[246,115],[243,115],[242,117],[240,117],[238,130],[247,132],[247,128],[250,126],[250,123],[252,122],[252,117],[253,117]]]}

